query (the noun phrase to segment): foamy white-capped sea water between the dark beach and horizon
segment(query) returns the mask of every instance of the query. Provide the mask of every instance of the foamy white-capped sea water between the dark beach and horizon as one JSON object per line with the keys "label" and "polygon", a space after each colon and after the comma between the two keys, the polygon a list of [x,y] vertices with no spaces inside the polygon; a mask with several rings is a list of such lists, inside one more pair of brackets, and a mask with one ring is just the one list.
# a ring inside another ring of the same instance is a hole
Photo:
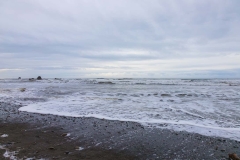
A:
{"label": "foamy white-capped sea water between the dark beach and horizon", "polygon": [[0,99],[22,104],[20,111],[134,121],[240,141],[240,79],[1,79]]}

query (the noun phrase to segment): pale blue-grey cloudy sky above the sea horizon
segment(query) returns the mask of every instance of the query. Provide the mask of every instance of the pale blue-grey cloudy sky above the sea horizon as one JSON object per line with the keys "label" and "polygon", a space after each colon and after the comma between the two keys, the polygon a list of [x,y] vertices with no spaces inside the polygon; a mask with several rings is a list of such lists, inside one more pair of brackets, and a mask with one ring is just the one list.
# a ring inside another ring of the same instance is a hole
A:
{"label": "pale blue-grey cloudy sky above the sea horizon", "polygon": [[239,0],[0,0],[0,78],[240,78]]}

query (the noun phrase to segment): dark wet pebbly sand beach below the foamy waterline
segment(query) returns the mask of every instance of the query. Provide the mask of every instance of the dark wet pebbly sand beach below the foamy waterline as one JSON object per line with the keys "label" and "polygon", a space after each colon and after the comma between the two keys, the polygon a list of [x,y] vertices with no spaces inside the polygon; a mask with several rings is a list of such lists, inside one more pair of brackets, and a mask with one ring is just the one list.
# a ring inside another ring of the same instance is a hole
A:
{"label": "dark wet pebbly sand beach below the foamy waterline", "polygon": [[19,107],[0,102],[0,133],[9,135],[0,137],[0,145],[18,150],[18,158],[221,160],[228,153],[240,155],[240,143],[234,140],[135,122],[18,112]]}

